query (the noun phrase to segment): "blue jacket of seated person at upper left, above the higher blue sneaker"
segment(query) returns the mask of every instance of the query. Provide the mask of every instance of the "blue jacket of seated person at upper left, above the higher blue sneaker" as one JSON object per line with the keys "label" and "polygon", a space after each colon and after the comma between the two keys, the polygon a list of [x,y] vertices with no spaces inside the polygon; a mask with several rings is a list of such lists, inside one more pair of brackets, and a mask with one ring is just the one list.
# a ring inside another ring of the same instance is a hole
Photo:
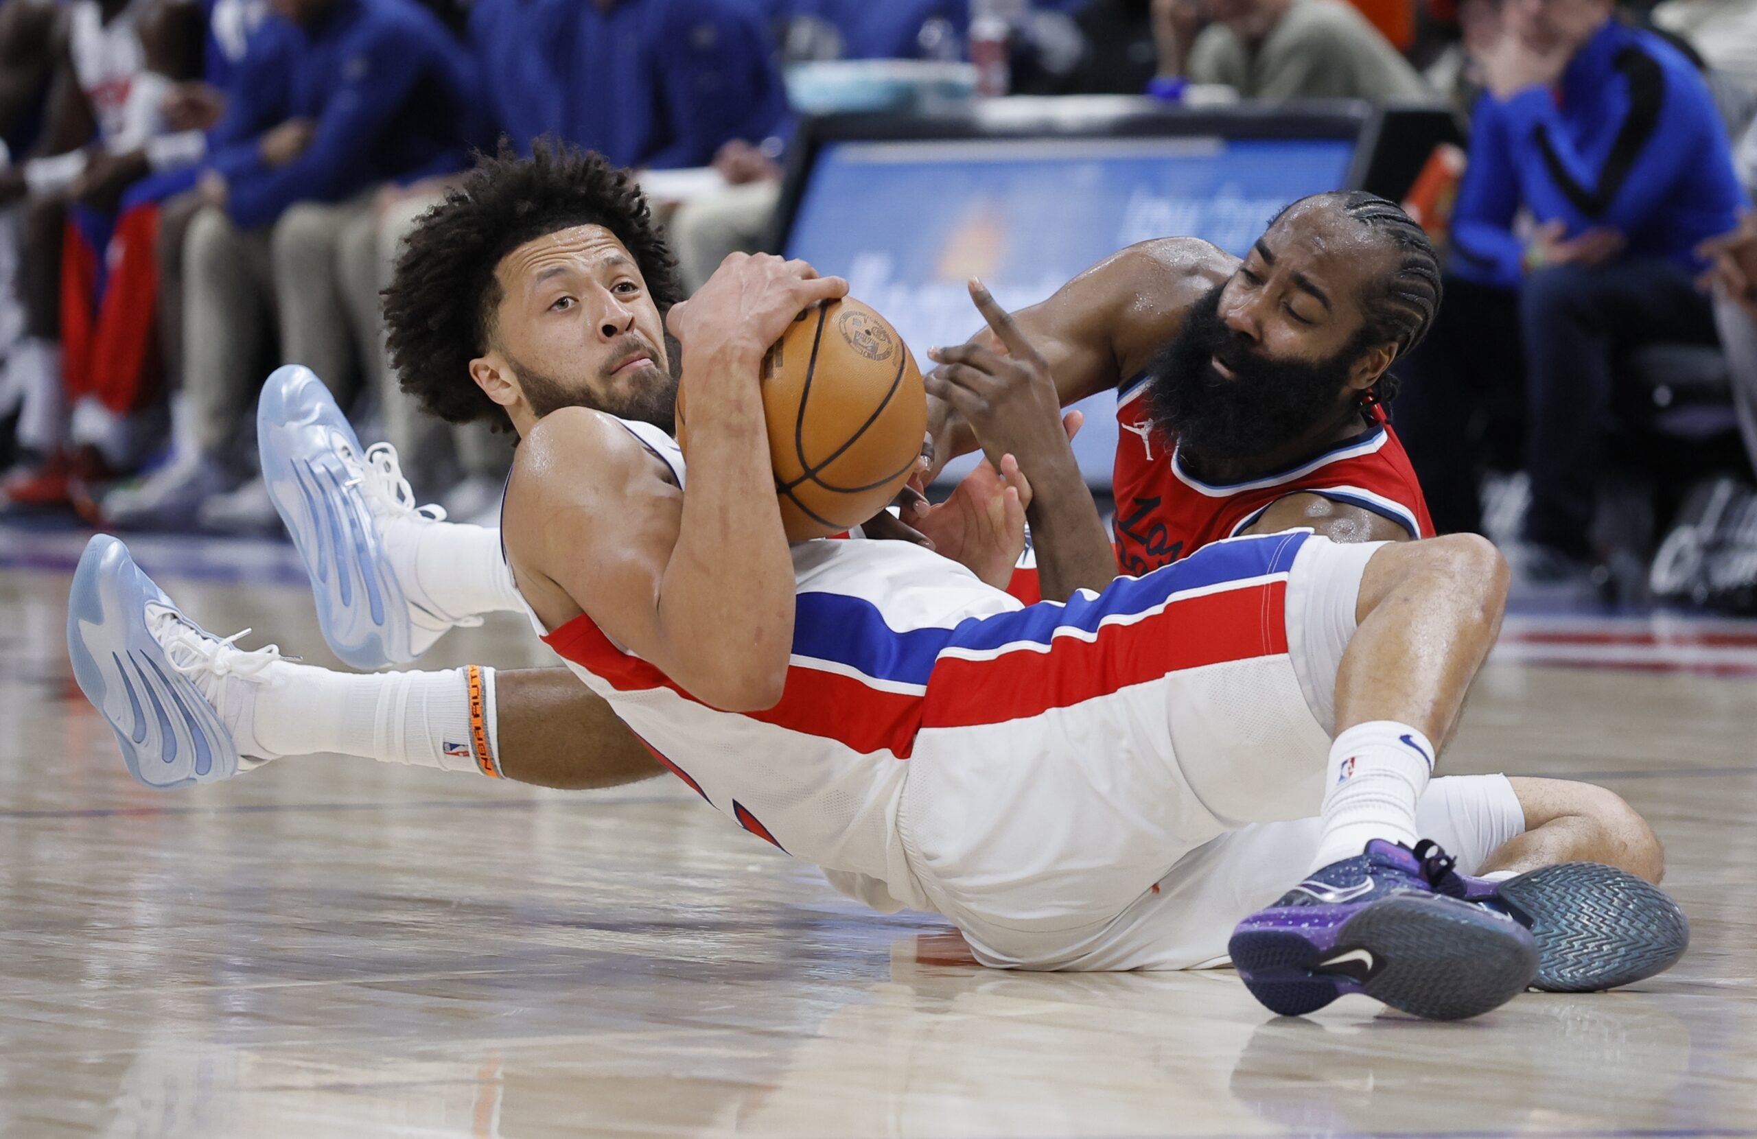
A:
{"label": "blue jacket of seated person at upper left, above the higher blue sneaker", "polygon": [[[299,200],[336,202],[374,183],[462,169],[487,142],[481,79],[469,53],[413,0],[311,0],[313,16],[271,16],[214,127],[209,167],[227,178],[227,213],[244,227]],[[262,132],[315,121],[309,146],[281,167],[257,153]]]}

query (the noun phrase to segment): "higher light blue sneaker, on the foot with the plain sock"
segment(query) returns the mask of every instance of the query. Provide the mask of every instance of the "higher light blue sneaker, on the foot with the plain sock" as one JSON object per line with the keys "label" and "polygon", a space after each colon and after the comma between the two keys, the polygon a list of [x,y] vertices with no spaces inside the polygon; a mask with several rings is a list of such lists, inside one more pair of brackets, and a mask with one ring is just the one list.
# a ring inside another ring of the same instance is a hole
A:
{"label": "higher light blue sneaker, on the foot with the plain sock", "polygon": [[353,668],[413,661],[409,606],[357,482],[365,448],[309,367],[278,367],[262,385],[257,446],[311,575],[323,640]]}

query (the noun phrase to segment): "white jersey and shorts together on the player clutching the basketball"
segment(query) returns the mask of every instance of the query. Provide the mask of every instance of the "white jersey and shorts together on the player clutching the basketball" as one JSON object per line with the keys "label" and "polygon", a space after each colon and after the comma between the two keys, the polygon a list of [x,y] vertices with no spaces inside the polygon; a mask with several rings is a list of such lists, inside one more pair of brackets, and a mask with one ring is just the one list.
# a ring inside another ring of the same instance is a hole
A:
{"label": "white jersey and shorts together on the player clutching the basketball", "polygon": [[[627,424],[671,466],[676,445]],[[903,541],[808,541],[780,703],[719,712],[576,617],[545,640],[683,782],[877,909],[1014,969],[1184,969],[1318,847],[1335,675],[1372,545],[1228,538],[1021,606]],[[541,629],[539,629],[541,633]],[[1504,779],[1437,780],[1479,865]]]}

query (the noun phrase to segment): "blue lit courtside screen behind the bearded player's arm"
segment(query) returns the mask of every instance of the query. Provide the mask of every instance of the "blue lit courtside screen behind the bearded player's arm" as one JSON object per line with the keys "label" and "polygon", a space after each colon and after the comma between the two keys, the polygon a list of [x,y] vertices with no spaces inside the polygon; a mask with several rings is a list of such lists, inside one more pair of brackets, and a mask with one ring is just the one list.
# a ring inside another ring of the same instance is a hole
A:
{"label": "blue lit courtside screen behind the bearded player's arm", "polygon": [[[1151,237],[1204,237],[1242,257],[1283,206],[1344,186],[1353,160],[1353,134],[826,141],[785,251],[849,278],[926,371],[931,345],[980,323],[970,276],[1023,308]],[[1116,401],[1088,404],[1075,452],[1088,482],[1109,487]]]}

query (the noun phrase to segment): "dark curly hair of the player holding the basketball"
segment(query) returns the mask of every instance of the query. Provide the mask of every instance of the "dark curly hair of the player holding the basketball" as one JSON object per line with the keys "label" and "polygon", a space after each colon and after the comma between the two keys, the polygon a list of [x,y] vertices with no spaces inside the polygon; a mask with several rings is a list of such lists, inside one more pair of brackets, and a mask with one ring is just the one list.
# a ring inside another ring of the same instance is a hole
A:
{"label": "dark curly hair of the player holding the basketball", "polygon": [[676,258],[633,174],[599,153],[538,139],[520,158],[501,139],[464,183],[409,230],[385,288],[385,341],[402,390],[452,424],[508,425],[506,410],[469,376],[494,339],[501,258],[527,241],[603,225],[617,236],[664,316],[683,299]]}

